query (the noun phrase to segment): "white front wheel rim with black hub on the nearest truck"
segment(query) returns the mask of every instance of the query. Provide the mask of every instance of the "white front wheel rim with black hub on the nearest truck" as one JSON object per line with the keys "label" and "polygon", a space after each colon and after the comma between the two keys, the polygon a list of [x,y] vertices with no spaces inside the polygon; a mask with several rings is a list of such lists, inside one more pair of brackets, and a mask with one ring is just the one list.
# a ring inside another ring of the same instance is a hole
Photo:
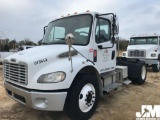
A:
{"label": "white front wheel rim with black hub on the nearest truck", "polygon": [[86,84],[79,94],[79,108],[82,112],[88,112],[95,103],[95,88],[92,84]]}

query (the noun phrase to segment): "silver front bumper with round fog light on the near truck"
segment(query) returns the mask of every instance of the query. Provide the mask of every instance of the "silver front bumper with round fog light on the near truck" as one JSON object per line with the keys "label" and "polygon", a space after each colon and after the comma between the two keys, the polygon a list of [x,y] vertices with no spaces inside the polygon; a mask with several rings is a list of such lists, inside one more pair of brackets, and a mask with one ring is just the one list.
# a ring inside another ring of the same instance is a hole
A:
{"label": "silver front bumper with round fog light on the near truck", "polygon": [[4,82],[6,93],[23,105],[47,111],[63,111],[67,92],[37,92]]}

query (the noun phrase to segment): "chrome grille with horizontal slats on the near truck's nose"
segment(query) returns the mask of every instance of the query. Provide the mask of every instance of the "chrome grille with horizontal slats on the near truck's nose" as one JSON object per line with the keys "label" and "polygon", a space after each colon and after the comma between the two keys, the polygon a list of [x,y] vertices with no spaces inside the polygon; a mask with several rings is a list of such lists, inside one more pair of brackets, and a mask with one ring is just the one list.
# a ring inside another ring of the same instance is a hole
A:
{"label": "chrome grille with horizontal slats on the near truck's nose", "polygon": [[27,85],[27,74],[26,65],[4,63],[4,78],[7,81]]}

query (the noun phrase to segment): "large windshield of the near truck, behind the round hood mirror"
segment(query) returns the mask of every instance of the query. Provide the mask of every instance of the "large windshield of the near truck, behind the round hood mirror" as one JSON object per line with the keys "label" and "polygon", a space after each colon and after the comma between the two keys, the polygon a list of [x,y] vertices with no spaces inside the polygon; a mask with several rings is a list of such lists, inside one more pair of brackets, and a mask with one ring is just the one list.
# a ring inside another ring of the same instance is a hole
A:
{"label": "large windshield of the near truck, behind the round hood mirror", "polygon": [[91,15],[77,15],[53,21],[48,25],[42,44],[66,44],[65,36],[72,33],[75,38],[74,45],[87,45],[91,23]]}

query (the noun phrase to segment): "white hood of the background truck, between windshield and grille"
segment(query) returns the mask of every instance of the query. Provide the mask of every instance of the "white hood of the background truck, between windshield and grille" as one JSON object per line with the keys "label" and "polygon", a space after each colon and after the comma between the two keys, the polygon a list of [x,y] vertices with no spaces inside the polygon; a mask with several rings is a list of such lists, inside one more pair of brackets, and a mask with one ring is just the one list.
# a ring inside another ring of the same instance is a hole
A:
{"label": "white hood of the background truck, between windshield and grille", "polygon": [[158,49],[157,45],[129,45],[127,50],[150,50],[150,49]]}

